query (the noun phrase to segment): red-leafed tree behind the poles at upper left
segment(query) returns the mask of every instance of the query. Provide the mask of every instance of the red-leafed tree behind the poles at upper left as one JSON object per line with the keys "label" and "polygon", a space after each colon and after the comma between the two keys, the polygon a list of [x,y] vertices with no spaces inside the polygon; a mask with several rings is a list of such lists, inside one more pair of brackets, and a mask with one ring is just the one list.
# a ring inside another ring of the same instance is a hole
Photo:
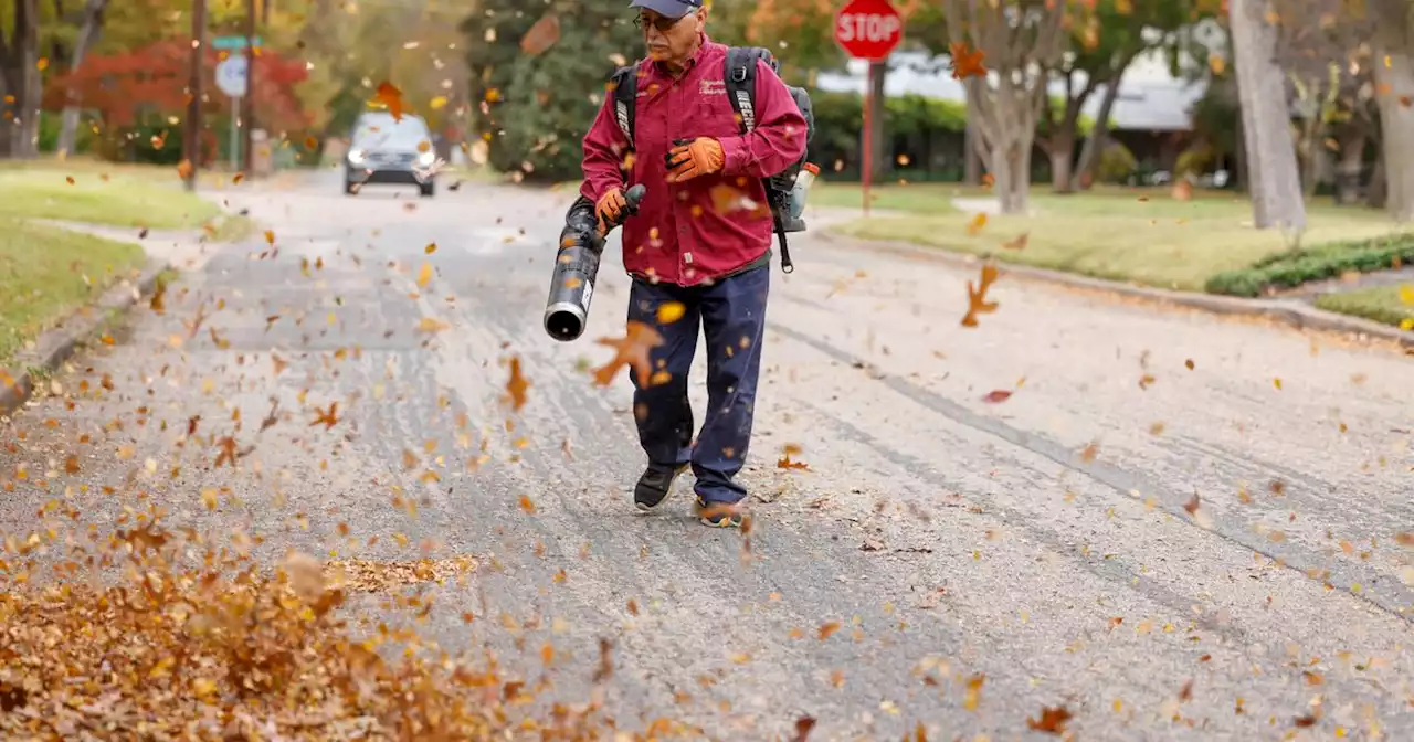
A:
{"label": "red-leafed tree behind the poles at upper left", "polygon": [[[163,123],[173,116],[182,117],[187,110],[188,52],[187,42],[177,40],[89,57],[76,72],[49,81],[44,107],[61,110],[65,103],[76,99],[83,109],[98,112],[102,126],[109,131]],[[206,52],[206,100],[202,110],[208,117],[232,113],[230,99],[221,95],[215,83],[215,69],[222,54],[215,49]],[[304,61],[262,51],[252,64],[255,85],[250,92],[255,96],[256,120],[274,137],[281,131],[308,126],[311,117],[296,95],[296,88],[307,78]]]}

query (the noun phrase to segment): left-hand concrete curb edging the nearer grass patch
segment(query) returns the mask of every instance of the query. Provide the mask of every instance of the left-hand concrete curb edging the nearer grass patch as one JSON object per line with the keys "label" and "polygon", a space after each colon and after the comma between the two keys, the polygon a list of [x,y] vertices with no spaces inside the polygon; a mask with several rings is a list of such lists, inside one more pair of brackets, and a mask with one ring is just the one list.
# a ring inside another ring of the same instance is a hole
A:
{"label": "left-hand concrete curb edging the nearer grass patch", "polygon": [[137,301],[153,293],[157,277],[170,270],[165,260],[148,260],[136,278],[124,278],[109,287],[98,301],[76,310],[64,322],[35,339],[35,348],[17,353],[11,366],[18,369],[14,379],[6,379],[0,386],[0,416],[14,414],[34,393],[34,379],[30,369],[58,370],[74,352],[85,345],[115,311],[127,311]]}

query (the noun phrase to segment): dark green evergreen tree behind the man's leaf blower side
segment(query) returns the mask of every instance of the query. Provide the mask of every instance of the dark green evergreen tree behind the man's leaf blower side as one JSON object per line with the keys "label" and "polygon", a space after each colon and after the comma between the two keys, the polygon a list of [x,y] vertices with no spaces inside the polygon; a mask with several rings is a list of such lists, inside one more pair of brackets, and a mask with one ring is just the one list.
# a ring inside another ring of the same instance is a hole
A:
{"label": "dark green evergreen tree behind the man's leaf blower side", "polygon": [[[523,51],[537,23],[532,49]],[[461,30],[492,167],[532,179],[578,178],[580,143],[609,75],[643,54],[624,3],[557,0],[526,11],[523,0],[484,0]]]}

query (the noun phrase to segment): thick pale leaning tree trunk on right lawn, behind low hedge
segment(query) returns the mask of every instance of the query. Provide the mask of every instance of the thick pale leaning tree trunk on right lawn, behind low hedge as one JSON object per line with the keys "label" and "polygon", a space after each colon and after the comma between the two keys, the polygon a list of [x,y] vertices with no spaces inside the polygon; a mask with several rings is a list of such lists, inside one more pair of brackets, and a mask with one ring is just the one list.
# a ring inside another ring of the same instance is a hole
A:
{"label": "thick pale leaning tree trunk on right lawn, behind low hedge", "polygon": [[1237,57],[1253,222],[1257,229],[1304,229],[1307,205],[1301,198],[1301,174],[1291,141],[1285,76],[1275,62],[1275,28],[1267,23],[1266,3],[1260,0],[1230,0],[1227,7]]}

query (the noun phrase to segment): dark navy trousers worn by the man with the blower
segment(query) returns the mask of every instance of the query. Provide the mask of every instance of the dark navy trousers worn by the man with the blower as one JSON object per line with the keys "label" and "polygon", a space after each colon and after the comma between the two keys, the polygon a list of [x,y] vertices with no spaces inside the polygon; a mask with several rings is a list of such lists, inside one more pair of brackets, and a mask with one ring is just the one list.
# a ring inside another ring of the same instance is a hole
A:
{"label": "dark navy trousers worn by the man with the blower", "polygon": [[[629,291],[628,318],[663,335],[663,345],[650,353],[658,383],[645,387],[636,373],[629,375],[638,440],[649,466],[691,464],[697,496],[708,503],[735,503],[747,496],[732,478],[751,444],[769,288],[766,264],[711,285],[655,285],[633,278]],[[659,324],[658,308],[673,301],[686,312],[676,322]],[[694,447],[687,372],[697,353],[699,326],[707,338],[707,414]],[[667,372],[666,380],[659,372]]]}

